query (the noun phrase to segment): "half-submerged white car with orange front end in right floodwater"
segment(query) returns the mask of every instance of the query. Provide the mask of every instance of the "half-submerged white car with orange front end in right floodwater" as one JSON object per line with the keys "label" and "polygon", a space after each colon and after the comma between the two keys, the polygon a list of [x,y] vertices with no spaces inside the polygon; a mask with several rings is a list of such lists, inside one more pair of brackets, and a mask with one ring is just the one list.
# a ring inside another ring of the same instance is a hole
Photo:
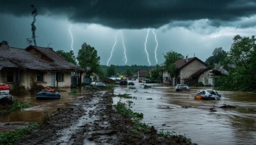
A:
{"label": "half-submerged white car with orange front end in right floodwater", "polygon": [[220,100],[221,95],[212,89],[198,90],[195,95],[195,100]]}

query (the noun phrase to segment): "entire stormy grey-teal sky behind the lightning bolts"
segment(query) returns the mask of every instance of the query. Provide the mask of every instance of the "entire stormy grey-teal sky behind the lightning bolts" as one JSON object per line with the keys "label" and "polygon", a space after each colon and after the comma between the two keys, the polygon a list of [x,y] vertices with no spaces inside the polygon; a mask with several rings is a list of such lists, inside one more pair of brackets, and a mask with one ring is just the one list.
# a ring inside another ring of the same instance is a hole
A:
{"label": "entire stormy grey-teal sky behind the lightning bolts", "polygon": [[100,63],[124,65],[124,36],[127,65],[156,65],[163,53],[173,50],[182,55],[207,59],[214,48],[230,50],[236,34],[252,36],[256,32],[256,1],[253,0],[0,0],[0,41],[25,48],[31,38],[31,4],[35,5],[36,43],[54,50],[74,51],[85,42],[94,46]]}

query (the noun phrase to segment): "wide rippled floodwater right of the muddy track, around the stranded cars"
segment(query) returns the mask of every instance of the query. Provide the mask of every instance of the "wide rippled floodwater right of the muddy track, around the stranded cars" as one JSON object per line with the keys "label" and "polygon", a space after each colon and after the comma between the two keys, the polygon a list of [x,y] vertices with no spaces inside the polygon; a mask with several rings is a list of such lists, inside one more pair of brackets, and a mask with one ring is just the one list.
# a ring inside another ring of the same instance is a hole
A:
{"label": "wide rippled floodwater right of the muddy track, around the stranded cars", "polygon": [[[219,91],[221,100],[195,100],[196,91],[202,88],[175,92],[173,87],[157,84],[147,89],[142,83],[135,86],[135,90],[118,86],[116,94],[130,93],[136,98],[115,97],[114,103],[132,100],[131,109],[143,113],[143,122],[159,131],[185,134],[198,144],[256,144],[255,93]],[[236,107],[218,108],[223,104]],[[216,112],[210,111],[212,107]]]}

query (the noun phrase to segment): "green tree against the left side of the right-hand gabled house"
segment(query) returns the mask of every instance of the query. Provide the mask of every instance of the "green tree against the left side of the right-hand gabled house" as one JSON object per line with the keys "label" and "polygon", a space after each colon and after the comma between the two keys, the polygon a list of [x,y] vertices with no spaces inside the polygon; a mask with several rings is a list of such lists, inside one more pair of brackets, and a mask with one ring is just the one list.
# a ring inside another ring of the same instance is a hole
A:
{"label": "green tree against the left side of the right-hand gabled house", "polygon": [[167,52],[166,55],[164,55],[164,69],[167,70],[171,76],[174,76],[177,72],[177,68],[174,65],[174,62],[180,59],[184,59],[184,57],[177,52]]}

